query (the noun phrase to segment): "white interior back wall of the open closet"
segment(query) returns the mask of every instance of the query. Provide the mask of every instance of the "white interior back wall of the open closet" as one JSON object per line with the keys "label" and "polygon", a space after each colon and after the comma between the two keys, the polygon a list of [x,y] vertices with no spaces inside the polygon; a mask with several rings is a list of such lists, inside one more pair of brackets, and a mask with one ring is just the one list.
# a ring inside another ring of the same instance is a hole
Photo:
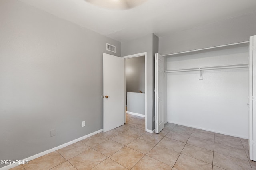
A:
{"label": "white interior back wall of the open closet", "polygon": [[166,120],[248,139],[248,47],[165,55]]}

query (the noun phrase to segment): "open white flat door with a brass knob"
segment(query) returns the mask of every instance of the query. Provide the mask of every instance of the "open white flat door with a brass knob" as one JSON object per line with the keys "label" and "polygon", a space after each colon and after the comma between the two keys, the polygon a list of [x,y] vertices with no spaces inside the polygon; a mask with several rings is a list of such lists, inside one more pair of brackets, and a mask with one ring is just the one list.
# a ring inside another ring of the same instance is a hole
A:
{"label": "open white flat door with a brass knob", "polygon": [[124,59],[103,53],[103,132],[124,125]]}

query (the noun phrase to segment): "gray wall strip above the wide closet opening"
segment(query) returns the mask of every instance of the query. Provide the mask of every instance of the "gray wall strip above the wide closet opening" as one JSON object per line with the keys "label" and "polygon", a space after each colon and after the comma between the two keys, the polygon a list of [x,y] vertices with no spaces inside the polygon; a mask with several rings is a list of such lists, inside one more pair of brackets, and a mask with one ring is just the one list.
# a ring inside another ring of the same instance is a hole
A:
{"label": "gray wall strip above the wide closet opening", "polygon": [[249,41],[256,35],[256,12],[159,38],[162,55]]}

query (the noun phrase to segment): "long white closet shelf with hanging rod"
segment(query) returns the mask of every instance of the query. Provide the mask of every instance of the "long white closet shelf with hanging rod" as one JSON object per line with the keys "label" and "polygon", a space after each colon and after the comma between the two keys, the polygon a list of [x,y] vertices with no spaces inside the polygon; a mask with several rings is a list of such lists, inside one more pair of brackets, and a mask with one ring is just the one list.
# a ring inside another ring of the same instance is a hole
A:
{"label": "long white closet shelf with hanging rod", "polygon": [[247,68],[249,67],[248,63],[244,64],[231,64],[231,65],[222,65],[222,66],[208,66],[208,67],[197,67],[197,68],[184,68],[184,69],[172,69],[164,70],[164,72],[190,72],[190,71],[202,71],[202,70],[220,70],[220,69],[231,69],[231,68]]}

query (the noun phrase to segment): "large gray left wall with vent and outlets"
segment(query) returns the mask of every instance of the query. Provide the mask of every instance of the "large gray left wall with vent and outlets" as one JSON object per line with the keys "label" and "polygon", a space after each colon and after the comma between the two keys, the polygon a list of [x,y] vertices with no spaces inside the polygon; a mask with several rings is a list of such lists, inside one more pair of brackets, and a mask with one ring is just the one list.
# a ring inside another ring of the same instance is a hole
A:
{"label": "large gray left wall with vent and outlets", "polygon": [[0,21],[0,160],[102,129],[102,53],[121,43],[16,0],[0,1]]}

